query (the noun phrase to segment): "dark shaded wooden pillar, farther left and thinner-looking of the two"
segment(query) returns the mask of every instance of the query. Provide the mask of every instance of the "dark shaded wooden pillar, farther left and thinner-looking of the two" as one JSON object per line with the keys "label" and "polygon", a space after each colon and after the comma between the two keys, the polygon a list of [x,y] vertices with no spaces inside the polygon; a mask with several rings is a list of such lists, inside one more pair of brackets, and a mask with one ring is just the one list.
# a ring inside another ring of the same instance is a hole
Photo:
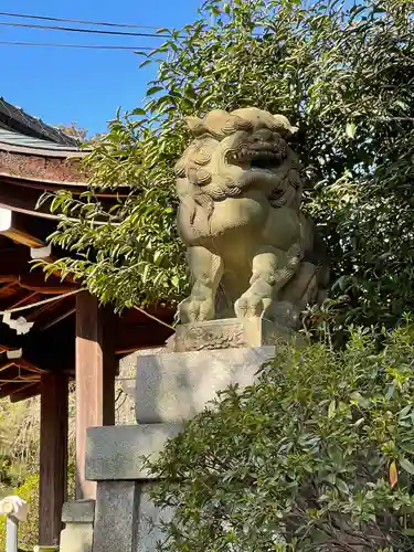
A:
{"label": "dark shaded wooden pillar, farther left and thinner-looking of the two", "polygon": [[40,416],[39,543],[59,543],[67,492],[67,378],[42,375]]}

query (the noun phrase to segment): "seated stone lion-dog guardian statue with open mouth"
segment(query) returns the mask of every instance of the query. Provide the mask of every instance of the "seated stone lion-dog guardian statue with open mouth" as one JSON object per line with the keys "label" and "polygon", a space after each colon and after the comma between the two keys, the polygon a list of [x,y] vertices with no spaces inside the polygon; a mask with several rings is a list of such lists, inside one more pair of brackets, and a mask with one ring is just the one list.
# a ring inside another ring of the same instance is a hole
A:
{"label": "seated stone lion-dog guardian statue with open mouth", "polygon": [[296,326],[328,285],[325,248],[300,213],[299,161],[286,117],[250,107],[187,119],[176,166],[178,230],[193,278],[181,322],[264,317]]}

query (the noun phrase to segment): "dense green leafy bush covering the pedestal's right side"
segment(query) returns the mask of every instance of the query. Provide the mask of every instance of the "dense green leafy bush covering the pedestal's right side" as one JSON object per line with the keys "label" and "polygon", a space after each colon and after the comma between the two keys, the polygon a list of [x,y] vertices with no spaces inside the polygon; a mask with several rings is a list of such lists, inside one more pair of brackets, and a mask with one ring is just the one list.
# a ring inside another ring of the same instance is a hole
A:
{"label": "dense green leafy bush covering the pedestal's right side", "polygon": [[413,550],[414,326],[350,333],[278,349],[149,464],[159,550]]}

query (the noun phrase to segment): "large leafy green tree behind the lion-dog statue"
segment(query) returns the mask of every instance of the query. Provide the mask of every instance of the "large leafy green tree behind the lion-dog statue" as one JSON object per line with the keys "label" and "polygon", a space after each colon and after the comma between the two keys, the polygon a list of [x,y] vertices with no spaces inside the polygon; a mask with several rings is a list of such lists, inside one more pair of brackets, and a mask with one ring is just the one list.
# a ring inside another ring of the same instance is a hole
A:
{"label": "large leafy green tree behind the lion-dog statue", "polygon": [[[412,15],[411,0],[205,1],[198,21],[141,54],[158,77],[144,108],[118,113],[87,157],[84,204],[54,200],[65,216],[52,241],[78,254],[60,268],[119,307],[179,298],[172,167],[183,117],[255,105],[300,128],[306,209],[330,246],[332,294],[350,297],[346,322],[392,325],[413,310]],[[98,189],[126,197],[108,212]]]}

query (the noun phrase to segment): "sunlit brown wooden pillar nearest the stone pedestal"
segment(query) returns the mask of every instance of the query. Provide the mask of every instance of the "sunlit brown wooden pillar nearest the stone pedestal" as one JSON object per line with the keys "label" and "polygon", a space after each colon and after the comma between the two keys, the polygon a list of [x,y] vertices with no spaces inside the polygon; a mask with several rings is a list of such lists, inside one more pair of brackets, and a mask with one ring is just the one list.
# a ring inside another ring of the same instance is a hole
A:
{"label": "sunlit brown wooden pillar nearest the stone pedestal", "polygon": [[96,498],[85,479],[86,429],[115,424],[112,316],[87,291],[76,298],[76,498]]}

